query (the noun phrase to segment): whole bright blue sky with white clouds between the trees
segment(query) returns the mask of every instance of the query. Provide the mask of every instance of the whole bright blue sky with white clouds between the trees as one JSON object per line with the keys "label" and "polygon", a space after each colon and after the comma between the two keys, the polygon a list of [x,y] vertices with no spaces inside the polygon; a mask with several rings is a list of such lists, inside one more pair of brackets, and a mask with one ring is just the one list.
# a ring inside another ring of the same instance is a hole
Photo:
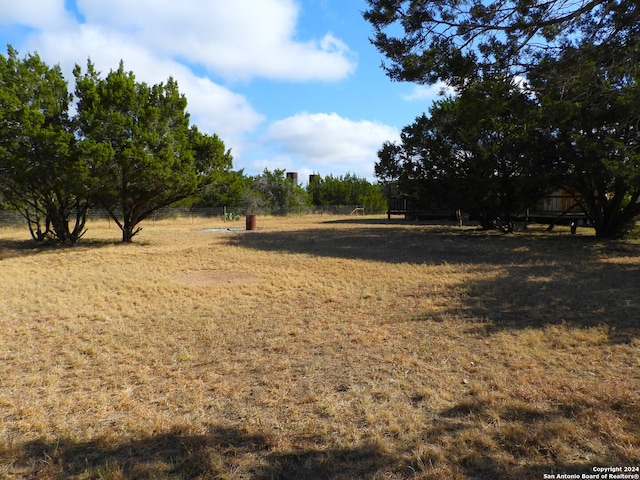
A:
{"label": "whole bright blue sky with white clouds between the trees", "polygon": [[364,0],[0,0],[0,43],[59,64],[122,59],[140,81],[172,76],[192,122],[231,148],[234,169],[374,180],[384,141],[438,87],[391,82],[369,43]]}

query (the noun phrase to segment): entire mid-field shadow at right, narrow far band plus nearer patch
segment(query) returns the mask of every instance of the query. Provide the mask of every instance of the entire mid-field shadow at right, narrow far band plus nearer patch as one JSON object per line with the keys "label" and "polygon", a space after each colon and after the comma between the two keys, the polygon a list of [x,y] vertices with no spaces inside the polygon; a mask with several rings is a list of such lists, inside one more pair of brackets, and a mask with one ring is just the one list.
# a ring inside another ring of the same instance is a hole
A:
{"label": "entire mid-field shadow at right, narrow far band plus nearer patch", "polygon": [[389,224],[260,232],[229,242],[283,254],[461,265],[473,279],[459,287],[461,306],[446,314],[468,319],[478,333],[566,323],[608,325],[614,342],[640,335],[638,243]]}

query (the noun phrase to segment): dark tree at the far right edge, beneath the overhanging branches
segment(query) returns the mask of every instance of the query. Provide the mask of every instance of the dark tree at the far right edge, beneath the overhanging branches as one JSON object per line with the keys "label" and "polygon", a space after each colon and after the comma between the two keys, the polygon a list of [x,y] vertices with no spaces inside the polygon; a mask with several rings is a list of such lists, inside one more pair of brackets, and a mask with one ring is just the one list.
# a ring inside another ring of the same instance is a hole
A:
{"label": "dark tree at the far right edge, beneath the overhanging branches", "polygon": [[[637,45],[585,45],[547,57],[532,75],[549,135],[567,172],[563,186],[578,199],[598,237],[620,237],[640,215],[640,87]],[[580,64],[573,59],[582,58]],[[556,74],[559,70],[564,75]]]}

